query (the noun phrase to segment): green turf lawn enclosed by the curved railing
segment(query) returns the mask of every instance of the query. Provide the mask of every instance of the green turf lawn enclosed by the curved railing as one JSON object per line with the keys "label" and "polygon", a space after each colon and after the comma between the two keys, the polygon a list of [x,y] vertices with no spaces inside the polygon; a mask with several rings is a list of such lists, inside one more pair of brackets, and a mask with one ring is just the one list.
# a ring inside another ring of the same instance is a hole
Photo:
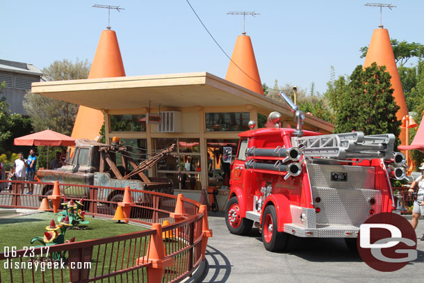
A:
{"label": "green turf lawn enclosed by the curved railing", "polygon": [[[49,226],[51,220],[55,220],[57,223],[57,216],[55,213],[43,212],[31,214],[28,216],[19,216],[15,218],[2,218],[0,219],[0,252],[5,251],[6,248],[12,249],[16,247],[16,250],[20,250],[23,247],[31,246],[31,238],[34,236],[43,236],[45,229]],[[124,223],[117,223],[113,220],[101,220],[98,218],[86,217],[90,223],[88,225],[81,225],[86,227],[83,230],[67,229],[65,233],[65,240],[70,240],[75,237],[75,241],[85,241],[95,238],[104,238],[108,236],[117,236],[120,234],[128,234],[131,232],[140,232],[147,228],[138,225],[129,225]],[[148,241],[148,240],[147,240]],[[113,270],[120,270],[127,266],[133,266],[131,259],[137,258],[136,252],[138,250],[145,249],[145,238],[139,238],[138,241],[127,240],[115,242],[114,244],[108,245],[96,245],[92,250],[92,269],[90,270],[90,276],[101,275],[110,273]],[[33,245],[40,245],[39,242],[33,243]],[[122,252],[125,250],[125,257],[121,258]],[[117,257],[117,255],[120,255]],[[142,254],[144,255],[144,254]],[[24,258],[24,261],[30,260]],[[19,261],[19,259],[15,259]],[[65,259],[65,261],[67,261]],[[11,282],[10,270],[6,270],[3,266],[5,261],[0,261],[0,282]],[[35,271],[31,269],[13,269],[13,282],[21,282],[22,276],[24,281],[32,282],[69,282],[69,271],[62,270],[60,268],[53,268],[50,270],[45,269],[45,273],[40,270]],[[52,272],[53,271],[53,272]],[[145,280],[145,270],[139,270],[140,272],[130,273],[129,275],[120,276],[118,282],[127,282],[128,280],[134,279]],[[131,279],[128,277],[130,276]],[[54,278],[53,278],[54,277]],[[115,277],[115,281],[116,281]]]}

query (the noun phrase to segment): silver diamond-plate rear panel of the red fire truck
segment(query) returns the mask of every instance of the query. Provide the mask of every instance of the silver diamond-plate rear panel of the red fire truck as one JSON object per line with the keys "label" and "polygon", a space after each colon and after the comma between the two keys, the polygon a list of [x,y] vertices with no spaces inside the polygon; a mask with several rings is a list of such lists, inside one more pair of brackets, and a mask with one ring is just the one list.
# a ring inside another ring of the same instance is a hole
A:
{"label": "silver diamond-plate rear panel of the red fire truck", "polygon": [[[317,225],[360,225],[370,216],[373,208],[380,212],[381,192],[374,189],[374,168],[348,165],[308,164],[309,178],[312,184]],[[332,180],[332,173],[347,175],[346,181]],[[368,200],[375,198],[371,206]]]}

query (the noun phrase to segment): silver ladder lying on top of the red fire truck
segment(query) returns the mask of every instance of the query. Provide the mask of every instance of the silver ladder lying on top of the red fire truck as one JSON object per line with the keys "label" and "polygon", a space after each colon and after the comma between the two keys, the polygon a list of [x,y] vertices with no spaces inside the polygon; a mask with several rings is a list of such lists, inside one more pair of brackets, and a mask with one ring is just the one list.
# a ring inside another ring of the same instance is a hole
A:
{"label": "silver ladder lying on top of the red fire truck", "polygon": [[393,134],[365,136],[363,132],[356,131],[344,134],[293,137],[292,144],[295,147],[304,145],[302,154],[307,158],[391,159],[395,136]]}

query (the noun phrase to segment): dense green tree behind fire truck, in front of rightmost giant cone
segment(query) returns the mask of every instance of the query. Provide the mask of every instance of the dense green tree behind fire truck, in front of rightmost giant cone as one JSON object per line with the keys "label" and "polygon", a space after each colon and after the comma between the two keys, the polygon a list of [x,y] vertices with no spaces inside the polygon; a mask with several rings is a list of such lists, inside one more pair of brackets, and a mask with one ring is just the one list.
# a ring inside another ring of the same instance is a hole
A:
{"label": "dense green tree behind fire truck, in front of rightmost giant cone", "polygon": [[376,63],[363,69],[359,65],[350,75],[341,103],[336,112],[335,133],[363,131],[366,135],[400,134],[400,121],[396,118],[396,105],[389,72]]}

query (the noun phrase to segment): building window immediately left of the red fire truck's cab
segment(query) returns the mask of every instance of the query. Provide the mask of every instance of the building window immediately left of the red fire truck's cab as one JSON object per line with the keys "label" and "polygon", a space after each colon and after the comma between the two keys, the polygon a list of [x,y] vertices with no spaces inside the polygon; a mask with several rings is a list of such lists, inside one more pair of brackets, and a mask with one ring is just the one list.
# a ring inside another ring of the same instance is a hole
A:
{"label": "building window immediately left of the red fire truck's cab", "polygon": [[230,163],[222,162],[224,147],[231,147],[231,162],[234,161],[237,154],[238,140],[206,140],[206,149],[208,152],[208,186],[218,186],[220,188],[227,188],[229,186]]}

